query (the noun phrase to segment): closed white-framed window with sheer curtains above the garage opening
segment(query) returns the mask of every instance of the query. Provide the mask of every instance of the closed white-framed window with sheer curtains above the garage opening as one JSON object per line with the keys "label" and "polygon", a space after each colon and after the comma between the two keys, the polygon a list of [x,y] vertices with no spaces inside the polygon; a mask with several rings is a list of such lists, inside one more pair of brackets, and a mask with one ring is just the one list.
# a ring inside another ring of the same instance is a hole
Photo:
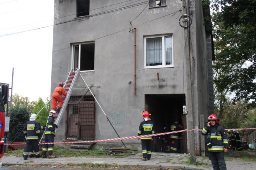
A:
{"label": "closed white-framed window with sheer curtains above the garage opening", "polygon": [[172,36],[144,37],[144,68],[172,66]]}

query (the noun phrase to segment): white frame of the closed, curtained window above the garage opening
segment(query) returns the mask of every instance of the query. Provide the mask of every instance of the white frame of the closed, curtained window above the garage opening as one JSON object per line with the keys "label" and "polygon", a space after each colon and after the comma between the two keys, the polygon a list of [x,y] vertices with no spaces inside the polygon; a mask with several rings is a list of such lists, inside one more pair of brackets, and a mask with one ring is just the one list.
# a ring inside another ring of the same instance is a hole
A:
{"label": "white frame of the closed, curtained window above the garage opening", "polygon": [[[158,38],[158,37],[162,37],[162,65],[157,65],[157,66],[147,66],[146,65],[146,39],[147,38]],[[171,57],[171,64],[166,65],[166,37],[172,37],[172,57]],[[174,67],[174,61],[173,61],[173,35],[172,34],[168,34],[168,35],[155,35],[155,36],[144,36],[144,68],[170,68],[170,67]]]}

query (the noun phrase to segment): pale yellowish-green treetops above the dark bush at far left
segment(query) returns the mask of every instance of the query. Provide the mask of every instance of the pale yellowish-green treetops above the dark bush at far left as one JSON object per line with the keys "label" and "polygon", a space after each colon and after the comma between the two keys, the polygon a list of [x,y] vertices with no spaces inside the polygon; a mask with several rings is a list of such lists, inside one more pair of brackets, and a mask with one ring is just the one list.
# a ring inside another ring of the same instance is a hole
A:
{"label": "pale yellowish-green treetops above the dark bush at far left", "polygon": [[35,104],[36,102],[30,102],[28,97],[19,96],[18,94],[12,96],[12,107],[26,107],[28,113],[32,113]]}

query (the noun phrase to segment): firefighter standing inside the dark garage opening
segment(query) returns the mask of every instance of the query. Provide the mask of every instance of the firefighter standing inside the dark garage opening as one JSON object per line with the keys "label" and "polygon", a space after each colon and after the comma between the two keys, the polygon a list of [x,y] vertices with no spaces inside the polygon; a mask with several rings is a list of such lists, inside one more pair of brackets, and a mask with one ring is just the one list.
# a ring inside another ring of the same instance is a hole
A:
{"label": "firefighter standing inside the dark garage opening", "polygon": [[[181,130],[182,127],[180,127],[179,125],[179,122],[178,121],[175,121],[174,123],[171,124],[171,132],[173,131],[179,131]],[[176,153],[177,152],[177,149],[179,147],[179,136],[180,136],[180,133],[172,133],[170,135],[170,151],[171,153]]]}

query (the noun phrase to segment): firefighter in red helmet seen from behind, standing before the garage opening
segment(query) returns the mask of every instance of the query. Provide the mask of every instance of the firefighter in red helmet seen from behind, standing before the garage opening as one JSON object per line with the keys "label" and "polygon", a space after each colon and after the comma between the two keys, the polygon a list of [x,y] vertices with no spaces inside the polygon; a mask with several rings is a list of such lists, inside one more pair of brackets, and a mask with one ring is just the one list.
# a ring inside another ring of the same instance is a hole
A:
{"label": "firefighter in red helmet seen from behind, standing before the garage opening", "polygon": [[[148,111],[144,111],[142,113],[142,118],[144,121],[140,123],[138,136],[140,135],[151,135],[154,134],[154,123],[149,118],[150,114]],[[146,161],[147,158],[150,160],[151,158],[151,140],[153,140],[153,137],[141,137],[141,147],[142,147],[142,160]],[[140,140],[139,139],[139,140]]]}

